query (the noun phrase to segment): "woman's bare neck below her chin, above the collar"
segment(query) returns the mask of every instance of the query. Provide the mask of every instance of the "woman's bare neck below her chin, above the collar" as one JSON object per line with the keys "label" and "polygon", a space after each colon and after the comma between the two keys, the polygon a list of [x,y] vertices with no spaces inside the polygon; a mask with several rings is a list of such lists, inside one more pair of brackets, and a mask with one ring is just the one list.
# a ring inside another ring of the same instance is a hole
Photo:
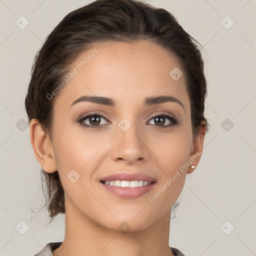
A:
{"label": "woman's bare neck below her chin, above the collar", "polygon": [[53,251],[53,256],[173,255],[169,248],[171,209],[153,225],[125,233],[99,225],[70,202],[65,203],[65,237],[60,247]]}

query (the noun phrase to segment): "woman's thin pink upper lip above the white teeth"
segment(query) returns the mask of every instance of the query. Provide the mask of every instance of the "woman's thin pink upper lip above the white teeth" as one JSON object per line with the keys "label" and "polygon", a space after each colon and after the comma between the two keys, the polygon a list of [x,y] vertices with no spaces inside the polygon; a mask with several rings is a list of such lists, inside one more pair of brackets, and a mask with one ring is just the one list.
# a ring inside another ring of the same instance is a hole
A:
{"label": "woman's thin pink upper lip above the white teeth", "polygon": [[136,173],[120,172],[120,173],[115,173],[115,174],[105,176],[100,179],[100,181],[111,181],[111,180],[129,180],[129,181],[143,180],[143,181],[147,181],[147,182],[156,181],[155,178],[148,176],[141,172],[136,172]]}

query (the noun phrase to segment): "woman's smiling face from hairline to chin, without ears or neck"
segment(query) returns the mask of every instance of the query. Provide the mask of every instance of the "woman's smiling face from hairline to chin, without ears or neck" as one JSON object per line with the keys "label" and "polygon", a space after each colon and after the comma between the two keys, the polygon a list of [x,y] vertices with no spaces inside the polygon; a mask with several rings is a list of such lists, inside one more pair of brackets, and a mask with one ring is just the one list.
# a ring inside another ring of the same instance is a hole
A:
{"label": "woman's smiling face from hairline to chin, without ears or neck", "polygon": [[[140,230],[169,217],[188,171],[184,164],[198,148],[185,77],[173,79],[173,68],[183,72],[178,59],[149,41],[95,48],[75,61],[77,73],[56,95],[52,171],[58,170],[70,214]],[[158,96],[170,99],[148,100]]]}

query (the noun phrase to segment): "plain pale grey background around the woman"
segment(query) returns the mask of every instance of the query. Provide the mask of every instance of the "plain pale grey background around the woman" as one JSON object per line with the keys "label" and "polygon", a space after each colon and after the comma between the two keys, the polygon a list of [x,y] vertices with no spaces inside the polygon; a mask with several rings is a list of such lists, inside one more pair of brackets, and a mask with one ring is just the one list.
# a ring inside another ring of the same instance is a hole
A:
{"label": "plain pale grey background around the woman", "polygon": [[[44,228],[45,209],[30,220],[42,193],[24,98],[42,41],[88,2],[0,0],[0,255],[33,255],[64,237],[63,214]],[[201,43],[208,82],[211,129],[171,220],[170,245],[185,255],[256,255],[256,0],[146,2],[169,10]],[[15,23],[21,15],[29,21],[23,29]]]}

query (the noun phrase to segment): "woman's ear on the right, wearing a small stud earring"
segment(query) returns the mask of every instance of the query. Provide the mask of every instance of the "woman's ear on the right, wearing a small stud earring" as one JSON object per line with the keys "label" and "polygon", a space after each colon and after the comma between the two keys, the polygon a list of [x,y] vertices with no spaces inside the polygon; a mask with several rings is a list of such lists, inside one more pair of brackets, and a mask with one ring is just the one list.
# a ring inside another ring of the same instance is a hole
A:
{"label": "woman's ear on the right, wearing a small stud earring", "polygon": [[[199,133],[197,133],[191,146],[189,158],[192,161],[191,165],[194,165],[195,167],[198,165],[199,160],[201,158],[205,129],[206,123],[205,121],[201,121],[200,131]],[[187,173],[193,172],[194,169],[188,167]]]}

